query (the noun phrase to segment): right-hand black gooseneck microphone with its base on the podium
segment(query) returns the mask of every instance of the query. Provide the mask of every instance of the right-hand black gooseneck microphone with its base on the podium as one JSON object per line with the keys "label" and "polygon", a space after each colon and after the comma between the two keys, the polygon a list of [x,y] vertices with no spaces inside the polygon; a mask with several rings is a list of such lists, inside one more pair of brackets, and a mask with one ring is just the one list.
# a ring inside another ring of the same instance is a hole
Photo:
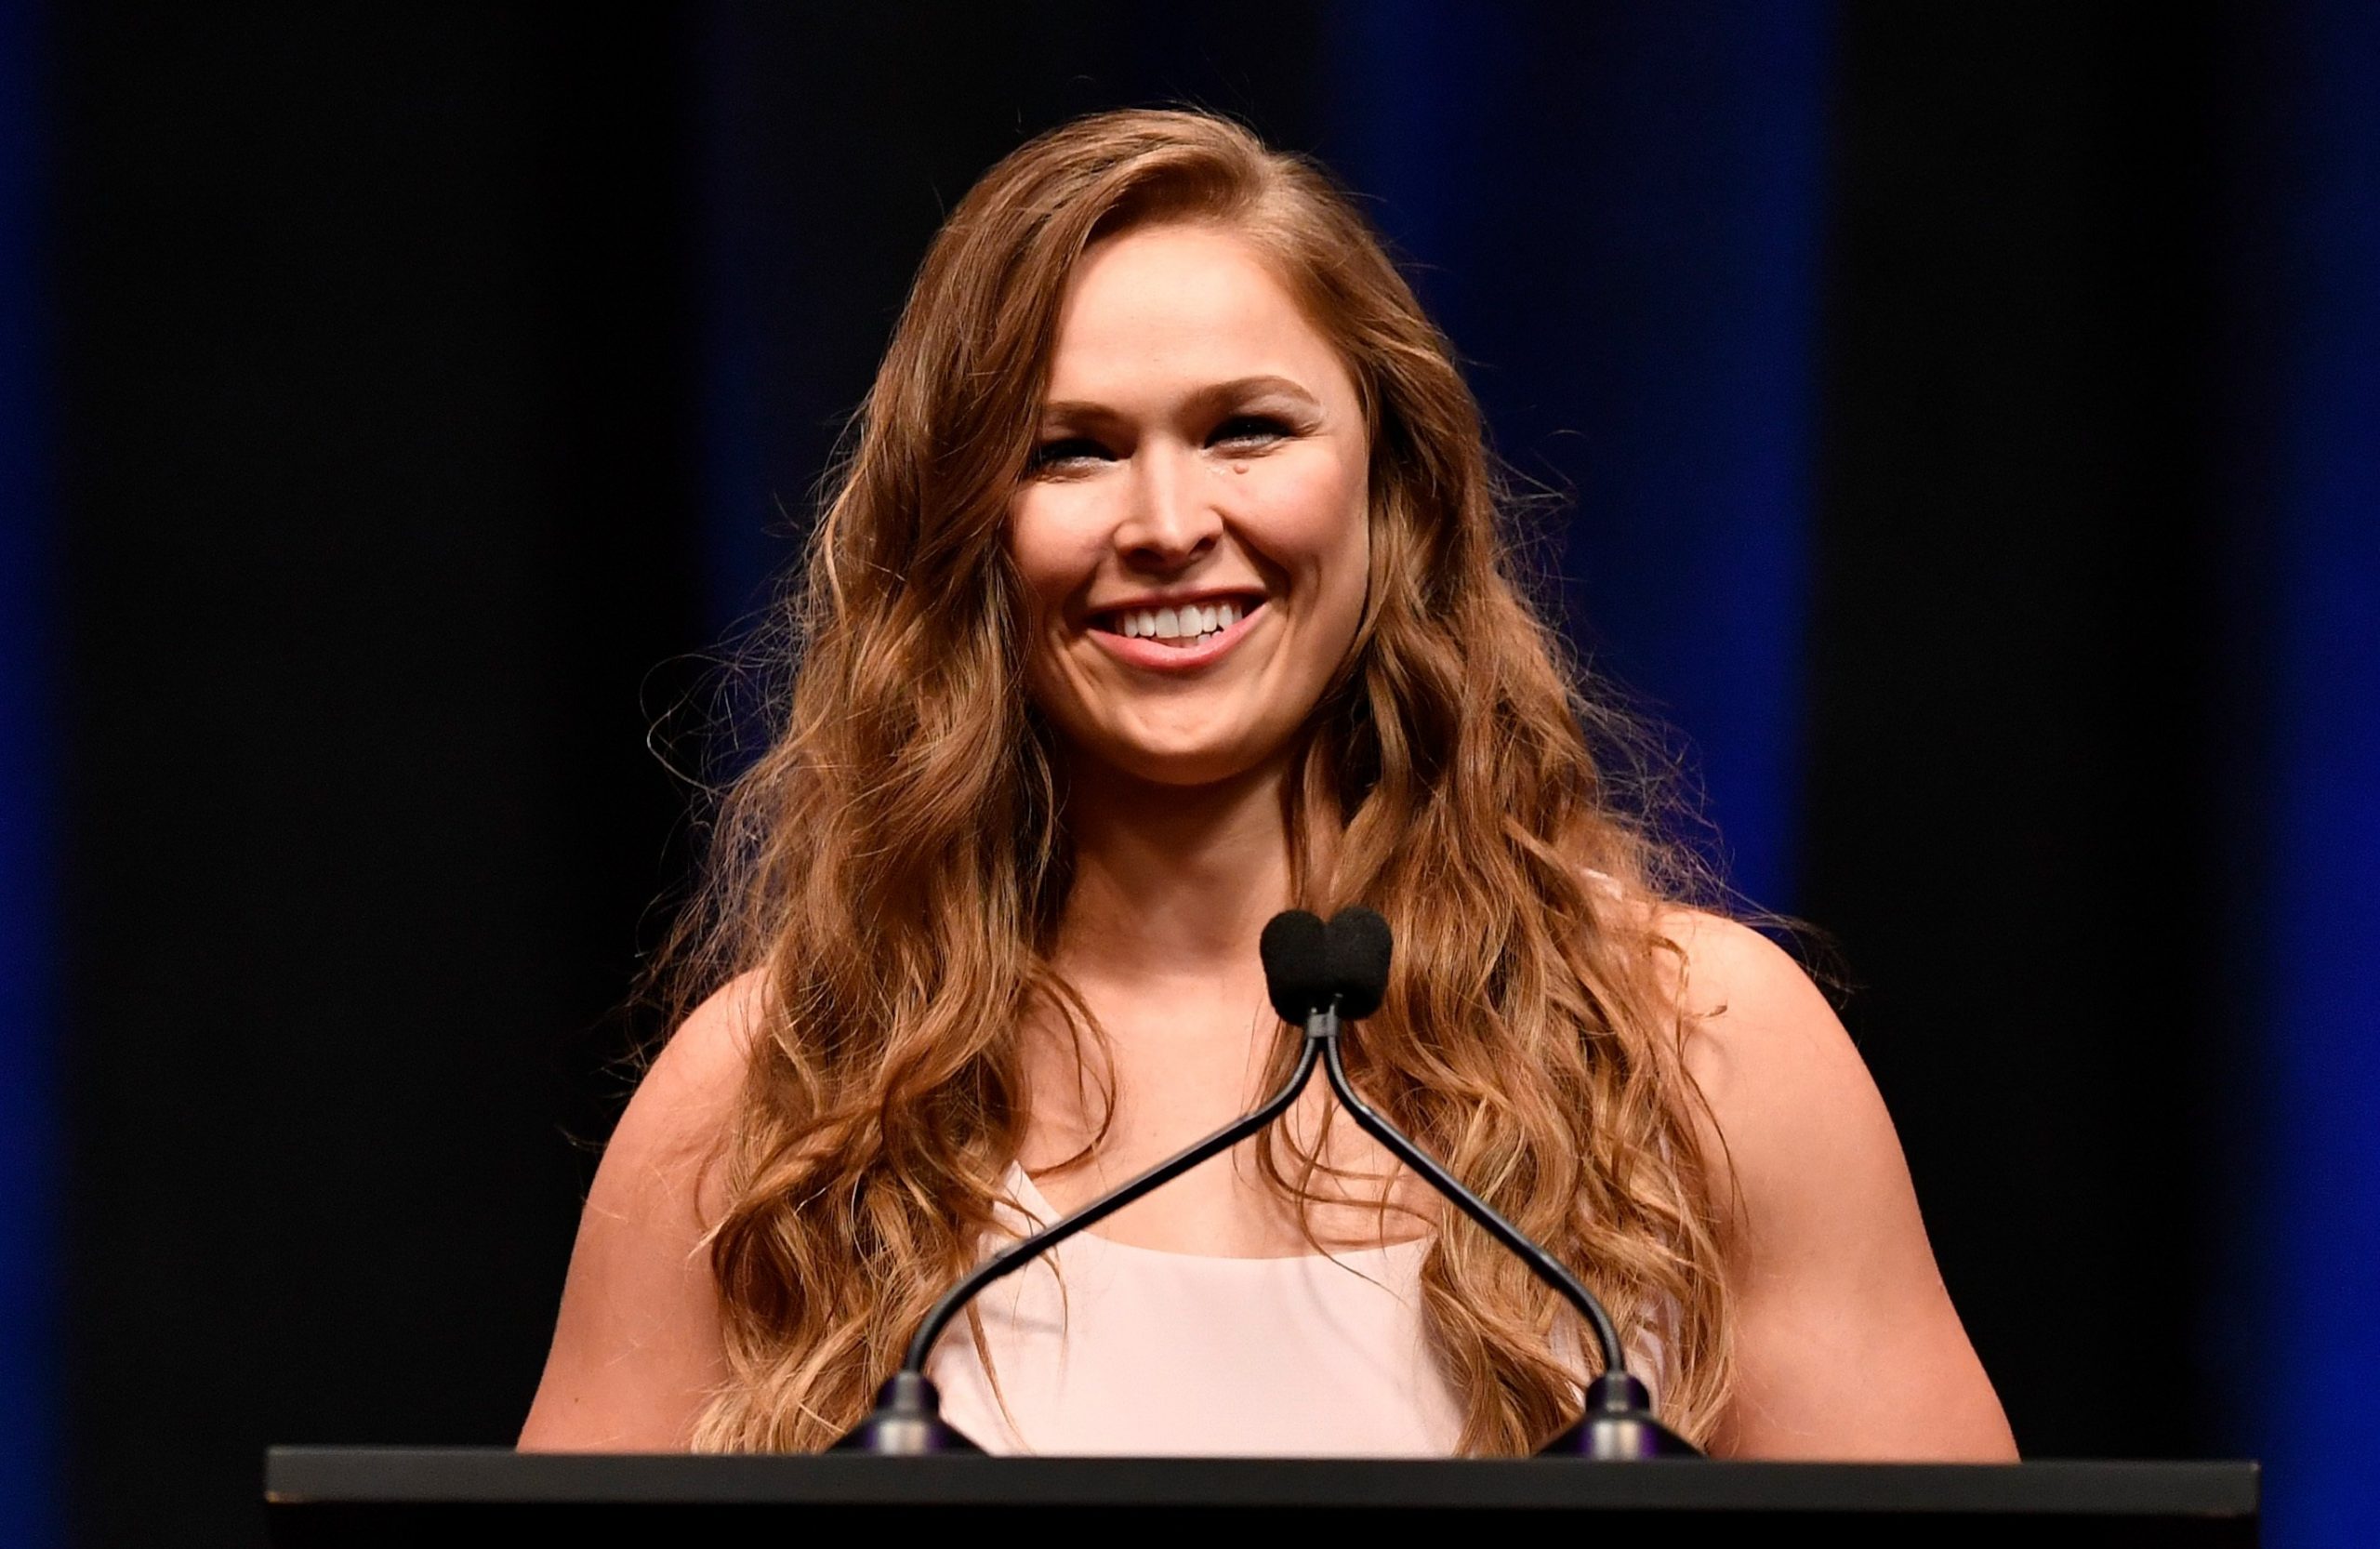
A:
{"label": "right-hand black gooseneck microphone with its base on the podium", "polygon": [[[1290,916],[1276,916],[1278,926]],[[1314,916],[1304,916],[1314,921]],[[1380,997],[1388,995],[1388,959],[1390,959],[1390,930],[1388,921],[1371,909],[1342,909],[1330,918],[1328,926],[1314,921],[1321,935],[1321,961],[1314,968],[1304,964],[1285,964],[1283,973],[1273,973],[1273,959],[1264,959],[1266,985],[1273,987],[1273,1009],[1290,1021],[1290,1009],[1302,1009],[1302,1021],[1307,1028],[1307,1047],[1314,1042],[1323,1045],[1323,1068],[1330,1078],[1330,1090],[1338,1092],[1340,1104],[1357,1121],[1364,1133],[1378,1140],[1390,1154],[1404,1166],[1414,1168],[1423,1183],[1438,1190],[1445,1199],[1454,1202],[1466,1216],[1480,1223],[1490,1237],[1502,1242],[1521,1263],[1528,1266],[1533,1275],[1554,1287],[1564,1302],[1578,1309],[1578,1316],[1587,1321],[1595,1332],[1595,1342],[1602,1347],[1604,1371],[1599,1378],[1587,1382],[1585,1392],[1585,1416],[1578,1425],[1571,1425],[1559,1437],[1547,1442],[1537,1456],[1587,1456],[1587,1459],[1664,1459],[1664,1456],[1702,1456],[1702,1451],[1661,1425],[1652,1411],[1652,1392],[1628,1371],[1628,1352],[1621,1344],[1618,1325],[1611,1323],[1611,1313],[1604,1309],[1602,1299],[1590,1292],[1578,1275],[1566,1271],[1559,1259],[1537,1247],[1521,1228],[1504,1221],[1485,1199],[1473,1194],[1461,1185],[1454,1173],[1445,1171],[1433,1161],[1421,1147],[1416,1147],[1397,1125],[1383,1118],[1368,1102],[1364,1102],[1354,1085],[1347,1080],[1347,1066],[1340,1061],[1342,1023],[1359,1021],[1380,1009]],[[1314,942],[1314,930],[1307,926],[1295,928],[1295,940],[1299,947]],[[1266,928],[1271,935],[1271,926]],[[1285,940],[1292,940],[1285,935]]]}

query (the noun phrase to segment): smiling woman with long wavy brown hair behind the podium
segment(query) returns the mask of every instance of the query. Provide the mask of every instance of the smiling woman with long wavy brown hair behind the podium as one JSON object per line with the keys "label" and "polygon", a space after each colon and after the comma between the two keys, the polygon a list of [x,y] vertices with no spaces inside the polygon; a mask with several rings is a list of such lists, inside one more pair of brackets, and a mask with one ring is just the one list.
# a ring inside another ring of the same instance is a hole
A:
{"label": "smiling woman with long wavy brown hair behind the podium", "polygon": [[[1602,1292],[1664,1421],[2013,1456],[1873,1083],[1618,809],[1447,343],[1316,169],[1183,112],[995,167],[795,623],[524,1447],[828,1444],[969,1263],[1278,1083],[1257,935],[1364,902],[1359,1090]],[[995,1449],[1509,1454],[1583,1349],[1316,1083],[933,1375]]]}

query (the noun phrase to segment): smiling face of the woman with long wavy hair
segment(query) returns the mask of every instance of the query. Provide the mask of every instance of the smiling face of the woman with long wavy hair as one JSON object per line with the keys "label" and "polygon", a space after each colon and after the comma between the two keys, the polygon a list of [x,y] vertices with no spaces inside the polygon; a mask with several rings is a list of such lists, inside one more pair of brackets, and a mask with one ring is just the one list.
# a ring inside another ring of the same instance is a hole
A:
{"label": "smiling face of the woman with long wavy hair", "polygon": [[1078,759],[1164,785],[1283,752],[1364,616],[1354,381],[1216,226],[1095,245],[1009,512],[1033,697]]}

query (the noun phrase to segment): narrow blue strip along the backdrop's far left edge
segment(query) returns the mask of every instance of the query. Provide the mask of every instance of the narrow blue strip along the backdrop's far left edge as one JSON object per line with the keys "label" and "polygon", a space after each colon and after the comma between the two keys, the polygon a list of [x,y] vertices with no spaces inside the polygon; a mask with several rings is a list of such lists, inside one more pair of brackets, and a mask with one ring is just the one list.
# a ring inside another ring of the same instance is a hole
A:
{"label": "narrow blue strip along the backdrop's far left edge", "polygon": [[57,1537],[55,926],[43,126],[33,0],[0,0],[0,1539]]}

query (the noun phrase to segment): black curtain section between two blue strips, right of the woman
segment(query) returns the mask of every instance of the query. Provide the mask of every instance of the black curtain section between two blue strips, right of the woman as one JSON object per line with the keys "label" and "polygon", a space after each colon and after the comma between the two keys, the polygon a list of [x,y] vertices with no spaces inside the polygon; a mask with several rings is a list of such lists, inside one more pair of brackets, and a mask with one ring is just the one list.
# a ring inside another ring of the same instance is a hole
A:
{"label": "black curtain section between two blue strips, right of the woman", "polygon": [[2199,1330],[2213,33],[1852,7],[1840,52],[1799,909],[2052,1456],[2242,1444]]}

